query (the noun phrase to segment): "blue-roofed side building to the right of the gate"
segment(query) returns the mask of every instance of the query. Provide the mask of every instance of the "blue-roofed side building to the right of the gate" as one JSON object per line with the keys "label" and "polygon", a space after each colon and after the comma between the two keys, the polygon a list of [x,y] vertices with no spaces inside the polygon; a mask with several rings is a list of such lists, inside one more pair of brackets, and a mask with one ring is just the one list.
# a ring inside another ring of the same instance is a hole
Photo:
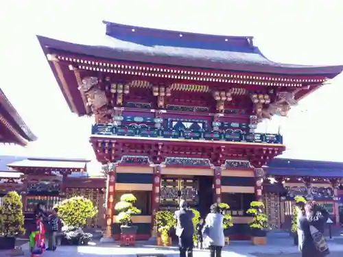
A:
{"label": "blue-roofed side building to the right of the gate", "polygon": [[294,197],[324,206],[333,225],[340,225],[339,189],[342,162],[276,158],[269,163],[263,184],[265,206],[273,228],[290,228]]}

